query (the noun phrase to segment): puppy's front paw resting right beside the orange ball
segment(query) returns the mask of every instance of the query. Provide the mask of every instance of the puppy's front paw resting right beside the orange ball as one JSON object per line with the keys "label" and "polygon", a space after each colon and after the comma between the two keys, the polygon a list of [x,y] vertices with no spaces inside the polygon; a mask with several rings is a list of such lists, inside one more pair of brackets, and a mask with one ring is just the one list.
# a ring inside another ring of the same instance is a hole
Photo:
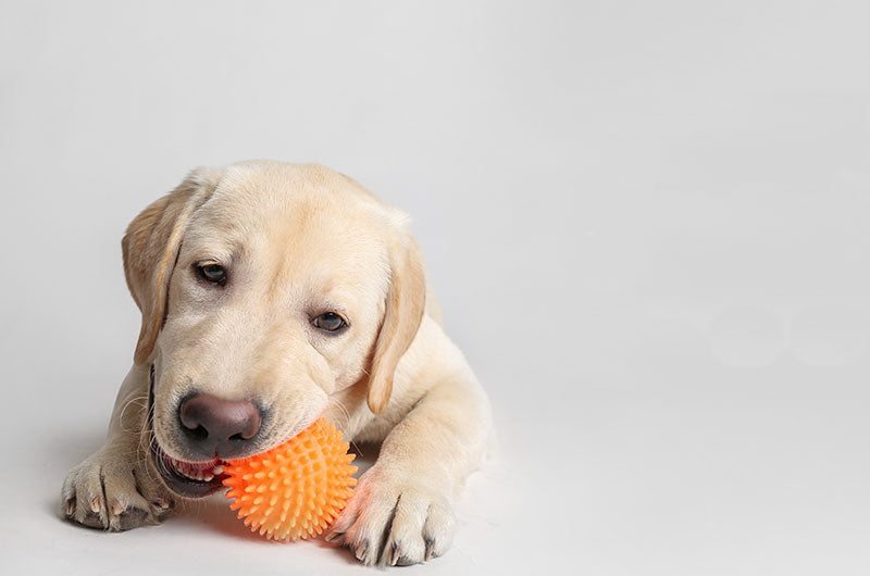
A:
{"label": "puppy's front paw resting right beside the orange ball", "polygon": [[348,547],[363,564],[417,564],[444,554],[453,539],[453,511],[444,491],[376,465],[326,540]]}

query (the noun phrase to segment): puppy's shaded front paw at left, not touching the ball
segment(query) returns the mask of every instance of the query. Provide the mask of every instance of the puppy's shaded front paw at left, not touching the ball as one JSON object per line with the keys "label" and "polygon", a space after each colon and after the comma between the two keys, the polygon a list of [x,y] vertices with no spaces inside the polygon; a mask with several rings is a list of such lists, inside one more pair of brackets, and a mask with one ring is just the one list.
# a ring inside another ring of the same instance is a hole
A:
{"label": "puppy's shaded front paw at left, not touching the ball", "polygon": [[111,531],[157,524],[174,499],[136,451],[103,447],[70,471],[63,483],[63,515],[78,524]]}

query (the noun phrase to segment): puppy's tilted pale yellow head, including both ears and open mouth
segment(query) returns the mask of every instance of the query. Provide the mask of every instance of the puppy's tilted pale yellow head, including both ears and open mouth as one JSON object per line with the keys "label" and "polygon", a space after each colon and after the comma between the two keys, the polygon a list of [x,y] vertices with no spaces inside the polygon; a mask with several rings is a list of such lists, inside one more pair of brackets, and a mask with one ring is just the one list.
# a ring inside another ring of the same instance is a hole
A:
{"label": "puppy's tilted pale yellow head, including both ears and open mouth", "polygon": [[385,410],[425,306],[407,217],[316,165],[197,170],[130,223],[124,270],[151,366],[151,455],[182,496],[293,437],[331,395]]}

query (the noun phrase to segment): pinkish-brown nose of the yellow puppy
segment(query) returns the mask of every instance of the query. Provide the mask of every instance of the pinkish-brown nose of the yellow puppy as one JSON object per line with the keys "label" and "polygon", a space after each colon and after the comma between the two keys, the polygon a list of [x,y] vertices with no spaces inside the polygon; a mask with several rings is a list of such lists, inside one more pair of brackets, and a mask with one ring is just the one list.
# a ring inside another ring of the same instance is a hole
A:
{"label": "pinkish-brown nose of the yellow puppy", "polygon": [[229,459],[248,447],[262,418],[253,402],[196,393],[178,404],[178,420],[192,452],[203,459]]}

